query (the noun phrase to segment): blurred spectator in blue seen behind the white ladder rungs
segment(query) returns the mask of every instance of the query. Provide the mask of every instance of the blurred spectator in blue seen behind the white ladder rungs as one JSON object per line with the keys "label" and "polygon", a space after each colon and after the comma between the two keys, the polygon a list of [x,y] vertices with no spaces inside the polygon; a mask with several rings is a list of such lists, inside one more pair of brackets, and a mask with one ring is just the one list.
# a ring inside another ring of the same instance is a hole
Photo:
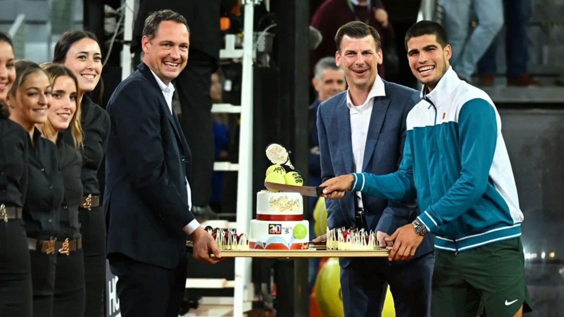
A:
{"label": "blurred spectator in blue seen behind the white ladder rungs", "polygon": [[[222,102],[221,77],[218,73],[211,74],[210,98],[213,103]],[[214,158],[216,162],[227,161],[229,153],[229,126],[227,113],[214,113]],[[211,199],[210,207],[216,213],[220,213],[223,198],[223,175],[222,171],[214,171],[211,176]]]}

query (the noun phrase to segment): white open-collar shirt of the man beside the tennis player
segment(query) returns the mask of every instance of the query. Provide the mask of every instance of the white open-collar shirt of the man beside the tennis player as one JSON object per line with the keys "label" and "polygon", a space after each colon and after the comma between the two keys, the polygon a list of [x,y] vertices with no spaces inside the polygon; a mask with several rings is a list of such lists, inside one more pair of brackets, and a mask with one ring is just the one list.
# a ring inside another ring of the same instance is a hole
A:
{"label": "white open-collar shirt of the man beside the tennis player", "polygon": [[[351,144],[352,157],[354,158],[355,173],[362,173],[362,165],[364,163],[364,148],[368,135],[368,126],[372,117],[372,107],[374,98],[377,96],[385,96],[384,82],[380,76],[376,75],[376,80],[372,84],[366,100],[361,105],[352,103],[349,90],[347,90],[347,107],[349,107],[349,116],[351,122]],[[358,208],[363,208],[362,195],[357,192]]]}

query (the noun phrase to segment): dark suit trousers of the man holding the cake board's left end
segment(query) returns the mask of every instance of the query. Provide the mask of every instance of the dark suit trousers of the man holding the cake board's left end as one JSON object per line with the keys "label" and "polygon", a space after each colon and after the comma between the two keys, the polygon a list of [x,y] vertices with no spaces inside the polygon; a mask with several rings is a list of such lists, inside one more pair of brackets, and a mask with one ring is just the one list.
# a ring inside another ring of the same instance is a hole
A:
{"label": "dark suit trousers of the man holding the cake board's left end", "polygon": [[186,287],[186,258],[172,269],[138,262],[120,253],[108,259],[110,270],[118,278],[121,316],[178,316]]}

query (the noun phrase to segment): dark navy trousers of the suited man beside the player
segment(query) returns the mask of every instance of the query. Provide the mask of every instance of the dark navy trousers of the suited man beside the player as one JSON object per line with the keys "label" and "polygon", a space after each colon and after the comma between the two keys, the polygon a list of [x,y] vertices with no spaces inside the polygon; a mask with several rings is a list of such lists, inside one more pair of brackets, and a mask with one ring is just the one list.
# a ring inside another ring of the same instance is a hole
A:
{"label": "dark navy trousers of the suited man beside the player", "polygon": [[387,258],[353,259],[341,268],[345,316],[380,316],[387,285],[396,315],[430,316],[434,259],[433,253],[396,265],[390,265]]}

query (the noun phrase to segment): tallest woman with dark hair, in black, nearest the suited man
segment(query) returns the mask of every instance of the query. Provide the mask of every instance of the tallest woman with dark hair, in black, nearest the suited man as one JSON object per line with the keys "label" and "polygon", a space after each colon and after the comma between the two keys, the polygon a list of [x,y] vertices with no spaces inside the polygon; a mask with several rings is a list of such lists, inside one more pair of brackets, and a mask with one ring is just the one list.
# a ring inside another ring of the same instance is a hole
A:
{"label": "tallest woman with dark hair, in black, nearest the suited man", "polygon": [[[85,316],[99,317],[104,313],[106,232],[97,175],[104,158],[109,117],[86,94],[94,90],[102,74],[102,53],[98,40],[87,31],[65,32],[55,45],[53,61],[68,67],[78,79],[77,100],[82,111],[84,135],[81,174],[83,197],[78,219],[84,253]],[[74,145],[71,129],[66,129],[63,134],[65,142]]]}

